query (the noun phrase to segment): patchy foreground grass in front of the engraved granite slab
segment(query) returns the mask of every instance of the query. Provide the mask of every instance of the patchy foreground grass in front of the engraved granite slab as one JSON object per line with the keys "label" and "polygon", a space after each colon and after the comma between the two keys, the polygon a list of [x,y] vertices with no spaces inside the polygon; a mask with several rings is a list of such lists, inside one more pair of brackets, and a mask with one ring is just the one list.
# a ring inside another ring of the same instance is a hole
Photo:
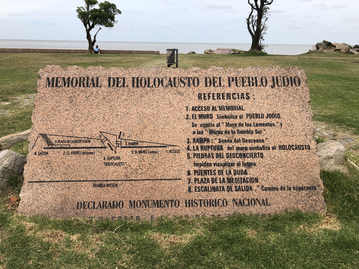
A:
{"label": "patchy foreground grass in front of the engraved granite slab", "polygon": [[126,222],[0,211],[5,268],[358,268],[358,174],[322,172],[328,214]]}

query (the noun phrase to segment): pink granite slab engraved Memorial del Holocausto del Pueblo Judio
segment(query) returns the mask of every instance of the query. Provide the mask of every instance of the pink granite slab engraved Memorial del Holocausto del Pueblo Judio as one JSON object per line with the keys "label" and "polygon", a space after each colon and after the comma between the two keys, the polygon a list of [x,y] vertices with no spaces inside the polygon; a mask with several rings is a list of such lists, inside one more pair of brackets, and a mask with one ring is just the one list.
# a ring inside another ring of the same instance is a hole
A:
{"label": "pink granite slab engraved Memorial del Holocausto del Pueblo Judio", "polygon": [[299,67],[39,71],[18,212],[324,213]]}

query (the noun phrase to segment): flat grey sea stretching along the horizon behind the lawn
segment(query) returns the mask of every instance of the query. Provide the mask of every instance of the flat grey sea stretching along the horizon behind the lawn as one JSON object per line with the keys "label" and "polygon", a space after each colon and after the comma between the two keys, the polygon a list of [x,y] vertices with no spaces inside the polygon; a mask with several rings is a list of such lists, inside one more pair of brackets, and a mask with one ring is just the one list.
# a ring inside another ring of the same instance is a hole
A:
{"label": "flat grey sea stretching along the horizon behind the lawn", "polygon": [[[159,51],[166,53],[168,48],[177,48],[178,53],[194,51],[203,54],[206,49],[235,48],[248,51],[251,44],[243,43],[180,43],[180,42],[127,42],[127,41],[97,41],[101,49],[120,49],[138,51]],[[0,48],[54,48],[54,49],[87,49],[87,41],[70,40],[27,40],[0,39]],[[267,44],[265,51],[276,55],[298,55],[306,53],[312,45]]]}

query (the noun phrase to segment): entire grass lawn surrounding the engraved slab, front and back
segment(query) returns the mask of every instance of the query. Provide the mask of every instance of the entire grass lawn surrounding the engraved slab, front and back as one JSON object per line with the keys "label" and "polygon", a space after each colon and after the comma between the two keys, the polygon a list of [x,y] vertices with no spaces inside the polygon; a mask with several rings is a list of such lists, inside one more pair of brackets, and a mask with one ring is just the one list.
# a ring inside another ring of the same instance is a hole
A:
{"label": "entire grass lawn surrounding the engraved slab, front and back", "polygon": [[[303,59],[306,57],[311,59]],[[322,59],[322,60],[315,60]],[[334,61],[335,60],[335,61]],[[300,66],[306,71],[313,120],[359,140],[357,55],[179,55],[179,66]],[[0,137],[31,127],[39,69],[46,65],[166,66],[165,55],[0,53]],[[166,67],[167,68],[167,67]],[[27,154],[28,143],[13,149]],[[359,162],[359,144],[347,157]],[[160,219],[155,222],[18,216],[6,208],[21,178],[2,190],[2,268],[359,268],[359,172],[322,171],[327,214]]]}

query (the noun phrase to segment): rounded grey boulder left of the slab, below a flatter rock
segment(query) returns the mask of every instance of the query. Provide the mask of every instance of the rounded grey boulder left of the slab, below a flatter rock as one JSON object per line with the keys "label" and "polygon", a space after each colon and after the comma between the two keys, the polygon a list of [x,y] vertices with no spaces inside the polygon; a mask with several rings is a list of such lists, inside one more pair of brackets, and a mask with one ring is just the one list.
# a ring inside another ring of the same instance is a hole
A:
{"label": "rounded grey boulder left of the slab, below a flatter rock", "polygon": [[11,176],[20,176],[24,172],[26,157],[12,150],[0,152],[0,188],[8,187]]}

